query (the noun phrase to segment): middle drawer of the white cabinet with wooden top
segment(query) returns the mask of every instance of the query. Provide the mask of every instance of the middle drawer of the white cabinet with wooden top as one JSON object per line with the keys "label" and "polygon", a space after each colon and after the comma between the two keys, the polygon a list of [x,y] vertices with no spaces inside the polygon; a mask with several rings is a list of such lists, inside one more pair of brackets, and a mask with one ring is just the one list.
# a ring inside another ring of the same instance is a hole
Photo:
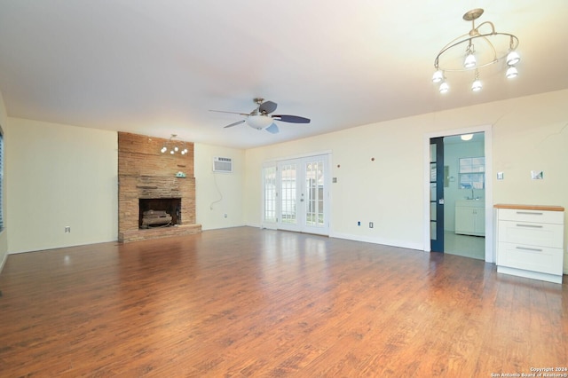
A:
{"label": "middle drawer of the white cabinet with wooden top", "polygon": [[500,221],[497,233],[499,242],[550,248],[562,248],[563,238],[564,225],[562,224]]}

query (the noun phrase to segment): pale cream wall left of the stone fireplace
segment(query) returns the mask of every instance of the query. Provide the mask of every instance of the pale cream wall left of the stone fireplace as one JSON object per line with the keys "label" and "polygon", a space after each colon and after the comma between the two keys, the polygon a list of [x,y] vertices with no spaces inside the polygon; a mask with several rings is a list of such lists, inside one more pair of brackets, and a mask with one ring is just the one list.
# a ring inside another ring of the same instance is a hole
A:
{"label": "pale cream wall left of the stone fireplace", "polygon": [[17,118],[4,131],[9,253],[117,240],[115,131]]}

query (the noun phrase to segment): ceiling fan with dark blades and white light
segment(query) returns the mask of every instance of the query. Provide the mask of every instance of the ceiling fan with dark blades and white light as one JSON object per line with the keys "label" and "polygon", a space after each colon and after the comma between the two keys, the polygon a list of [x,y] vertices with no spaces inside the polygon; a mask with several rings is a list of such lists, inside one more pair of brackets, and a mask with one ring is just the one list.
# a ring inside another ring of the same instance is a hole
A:
{"label": "ceiling fan with dark blades and white light", "polygon": [[309,118],[299,117],[297,115],[271,114],[274,110],[276,110],[276,107],[278,106],[275,102],[264,101],[264,98],[254,98],[253,101],[256,103],[256,109],[248,114],[225,112],[223,110],[211,110],[211,112],[241,114],[247,116],[247,118],[245,118],[244,120],[226,125],[225,129],[247,122],[248,126],[253,129],[266,130],[272,134],[276,134],[277,132],[279,132],[279,129],[274,121],[290,123],[310,123]]}

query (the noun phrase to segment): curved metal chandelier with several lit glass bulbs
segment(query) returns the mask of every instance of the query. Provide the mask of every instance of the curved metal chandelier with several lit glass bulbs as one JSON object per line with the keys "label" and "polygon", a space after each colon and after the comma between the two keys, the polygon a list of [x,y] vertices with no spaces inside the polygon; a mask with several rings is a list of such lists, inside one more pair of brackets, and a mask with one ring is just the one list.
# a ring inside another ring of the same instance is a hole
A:
{"label": "curved metal chandelier with several lit glass bulbs", "polygon": [[473,71],[471,91],[481,91],[483,84],[479,79],[479,69],[488,67],[505,59],[508,79],[517,77],[517,63],[521,60],[516,49],[518,38],[509,33],[498,33],[490,21],[485,21],[477,27],[475,21],[484,10],[477,8],[466,12],[463,20],[471,21],[469,33],[460,35],[438,52],[434,60],[436,72],[432,76],[433,83],[439,83],[438,91],[446,93],[450,86],[446,82],[448,72]]}

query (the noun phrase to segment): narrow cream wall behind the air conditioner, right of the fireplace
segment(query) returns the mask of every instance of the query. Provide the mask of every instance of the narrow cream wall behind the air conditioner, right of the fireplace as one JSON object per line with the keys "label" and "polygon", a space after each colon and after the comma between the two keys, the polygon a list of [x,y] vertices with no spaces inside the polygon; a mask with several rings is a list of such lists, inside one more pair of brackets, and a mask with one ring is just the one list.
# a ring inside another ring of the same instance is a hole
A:
{"label": "narrow cream wall behind the air conditioner, right of the fireplace", "polygon": [[[213,157],[233,159],[233,173],[213,173]],[[202,230],[244,225],[244,150],[196,143],[193,150],[196,222]],[[225,217],[226,214],[226,217]]]}

